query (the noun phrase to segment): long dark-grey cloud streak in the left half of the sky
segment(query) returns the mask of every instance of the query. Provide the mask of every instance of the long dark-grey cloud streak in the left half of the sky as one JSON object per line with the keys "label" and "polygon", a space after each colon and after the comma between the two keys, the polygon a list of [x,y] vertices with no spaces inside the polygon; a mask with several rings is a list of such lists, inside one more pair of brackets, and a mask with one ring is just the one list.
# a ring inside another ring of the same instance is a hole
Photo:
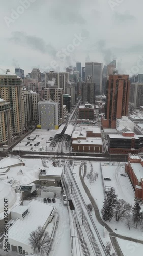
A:
{"label": "long dark-grey cloud streak in the left half of the sky", "polygon": [[33,50],[37,50],[43,54],[48,53],[51,56],[55,56],[57,52],[50,43],[46,44],[42,38],[33,35],[27,35],[26,33],[20,31],[13,32],[9,41],[14,42],[15,44],[29,47]]}

